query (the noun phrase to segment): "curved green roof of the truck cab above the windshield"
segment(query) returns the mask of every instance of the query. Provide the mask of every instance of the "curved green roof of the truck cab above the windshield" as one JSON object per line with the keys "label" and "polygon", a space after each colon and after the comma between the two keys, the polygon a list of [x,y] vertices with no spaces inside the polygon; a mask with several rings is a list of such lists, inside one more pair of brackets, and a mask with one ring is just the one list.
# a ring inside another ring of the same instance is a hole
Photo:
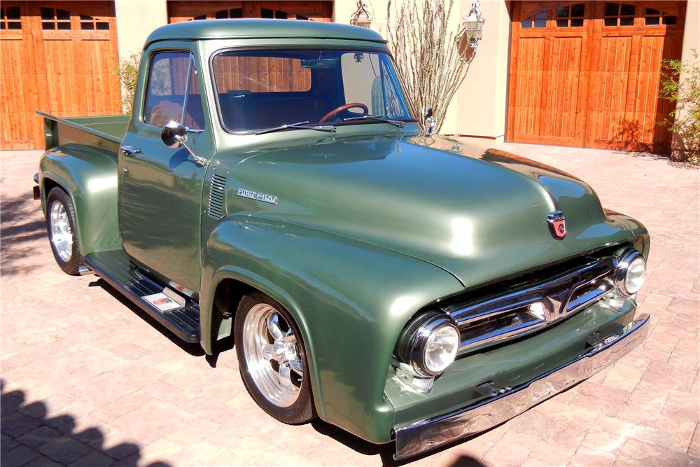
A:
{"label": "curved green roof of the truck cab above the windshield", "polygon": [[181,39],[349,39],[386,43],[365,27],[335,22],[303,20],[198,20],[183,21],[155,29],[146,46],[155,41]]}

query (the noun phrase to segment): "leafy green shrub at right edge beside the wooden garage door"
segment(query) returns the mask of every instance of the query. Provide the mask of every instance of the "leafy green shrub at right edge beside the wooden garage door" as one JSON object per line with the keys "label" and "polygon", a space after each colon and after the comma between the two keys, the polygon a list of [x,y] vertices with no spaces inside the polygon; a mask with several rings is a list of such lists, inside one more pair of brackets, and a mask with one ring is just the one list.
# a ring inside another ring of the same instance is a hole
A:
{"label": "leafy green shrub at right edge beside the wooden garage door", "polygon": [[[671,158],[682,162],[700,164],[700,62],[693,49],[694,62],[664,60],[661,68],[659,94],[675,109],[659,122],[675,134],[678,146]],[[674,145],[675,146],[675,145]]]}

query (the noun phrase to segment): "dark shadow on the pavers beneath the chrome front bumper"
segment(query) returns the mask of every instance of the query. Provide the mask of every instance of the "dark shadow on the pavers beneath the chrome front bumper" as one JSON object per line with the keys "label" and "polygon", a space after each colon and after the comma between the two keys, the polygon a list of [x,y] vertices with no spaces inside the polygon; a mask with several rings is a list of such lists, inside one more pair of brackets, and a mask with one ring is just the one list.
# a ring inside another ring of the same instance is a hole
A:
{"label": "dark shadow on the pavers beneath the chrome front bumper", "polygon": [[[444,449],[449,449],[449,447],[452,447],[457,444],[461,444],[463,442],[467,442],[471,438],[465,438],[463,440],[456,440],[455,442],[450,442],[447,445],[444,445],[438,449],[435,449],[433,451],[426,452],[425,454],[421,454],[419,456],[414,456],[409,459],[405,459],[402,461],[395,461],[393,459],[393,454],[395,452],[395,443],[390,442],[386,445],[375,445],[371,442],[367,442],[363,440],[362,438],[358,438],[356,435],[353,435],[352,433],[348,433],[347,431],[342,430],[342,428],[338,428],[337,426],[333,426],[331,424],[326,423],[325,421],[321,419],[314,419],[311,421],[311,426],[314,427],[318,433],[321,433],[322,435],[326,435],[329,438],[333,438],[337,442],[341,442],[342,444],[346,445],[347,447],[350,447],[351,449],[354,449],[356,452],[359,452],[360,454],[365,454],[366,456],[377,456],[381,458],[381,465],[386,466],[386,467],[398,467],[398,466],[404,466],[406,464],[419,461],[420,459],[433,456],[437,452],[441,452]],[[473,437],[472,437],[473,438]],[[478,459],[464,455],[462,454],[461,456],[458,456],[453,462],[449,463],[450,467],[486,467],[484,463],[481,463]]]}

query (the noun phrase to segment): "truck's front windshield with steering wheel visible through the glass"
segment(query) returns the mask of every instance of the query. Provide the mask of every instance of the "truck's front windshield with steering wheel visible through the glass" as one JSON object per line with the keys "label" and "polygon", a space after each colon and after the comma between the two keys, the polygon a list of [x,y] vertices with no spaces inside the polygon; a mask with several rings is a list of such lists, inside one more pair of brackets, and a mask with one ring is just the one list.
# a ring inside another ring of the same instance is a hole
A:
{"label": "truck's front windshield with steering wheel visible through the glass", "polygon": [[[221,121],[232,132],[295,123],[362,125],[382,123],[382,119],[415,120],[386,53],[230,51],[216,55],[212,67]],[[363,116],[377,118],[357,118]]]}

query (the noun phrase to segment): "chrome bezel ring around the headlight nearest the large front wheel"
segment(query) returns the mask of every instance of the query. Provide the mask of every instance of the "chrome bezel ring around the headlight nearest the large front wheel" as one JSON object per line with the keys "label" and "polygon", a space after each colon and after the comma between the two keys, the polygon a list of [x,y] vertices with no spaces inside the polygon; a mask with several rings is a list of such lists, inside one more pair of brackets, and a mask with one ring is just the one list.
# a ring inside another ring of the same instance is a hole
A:
{"label": "chrome bezel ring around the headlight nearest the large front wheel", "polygon": [[[449,354],[449,363],[440,370],[434,370],[429,368],[428,363],[426,363],[426,351],[428,350],[430,337],[444,329],[454,330],[456,334],[456,345]],[[456,358],[459,349],[459,341],[459,328],[449,314],[437,312],[428,313],[414,319],[414,321],[409,323],[409,326],[405,328],[402,337],[399,339],[397,354],[401,361],[411,366],[414,372],[416,372],[416,375],[425,377],[439,376],[454,362],[454,358]]]}

